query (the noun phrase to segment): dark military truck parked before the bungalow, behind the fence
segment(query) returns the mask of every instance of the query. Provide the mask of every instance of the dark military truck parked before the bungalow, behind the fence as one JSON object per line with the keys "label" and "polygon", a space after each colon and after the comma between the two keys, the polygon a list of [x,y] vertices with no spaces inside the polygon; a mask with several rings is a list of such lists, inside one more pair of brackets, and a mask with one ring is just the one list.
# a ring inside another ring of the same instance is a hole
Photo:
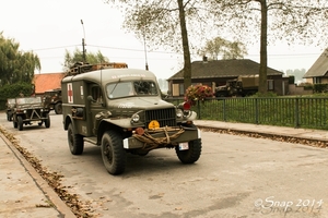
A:
{"label": "dark military truck parked before the bungalow, behind the fence", "polygon": [[215,97],[251,96],[258,92],[257,75],[239,75],[235,80],[227,80],[223,86],[215,88]]}

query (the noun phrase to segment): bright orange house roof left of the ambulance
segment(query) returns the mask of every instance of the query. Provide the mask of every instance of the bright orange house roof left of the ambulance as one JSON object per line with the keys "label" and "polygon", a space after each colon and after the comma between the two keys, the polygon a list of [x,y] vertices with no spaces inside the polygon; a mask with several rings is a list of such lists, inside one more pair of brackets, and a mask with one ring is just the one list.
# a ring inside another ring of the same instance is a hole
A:
{"label": "bright orange house roof left of the ambulance", "polygon": [[34,74],[35,94],[43,94],[46,90],[61,88],[61,80],[65,73]]}

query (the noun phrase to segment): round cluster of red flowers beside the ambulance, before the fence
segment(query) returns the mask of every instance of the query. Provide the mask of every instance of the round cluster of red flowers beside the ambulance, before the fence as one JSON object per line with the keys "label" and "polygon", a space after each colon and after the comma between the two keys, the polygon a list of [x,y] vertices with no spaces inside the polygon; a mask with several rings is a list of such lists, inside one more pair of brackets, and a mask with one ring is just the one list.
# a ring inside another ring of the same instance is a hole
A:
{"label": "round cluster of red flowers beside the ambulance, before the fence", "polygon": [[191,106],[195,106],[198,100],[204,102],[206,98],[212,97],[212,88],[208,85],[190,85],[185,94],[185,101],[189,102]]}

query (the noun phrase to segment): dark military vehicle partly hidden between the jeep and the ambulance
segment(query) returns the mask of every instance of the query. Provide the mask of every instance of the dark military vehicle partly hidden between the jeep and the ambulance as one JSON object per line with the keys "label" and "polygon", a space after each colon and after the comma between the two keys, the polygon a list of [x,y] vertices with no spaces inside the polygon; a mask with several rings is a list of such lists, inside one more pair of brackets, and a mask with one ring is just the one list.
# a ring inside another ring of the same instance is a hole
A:
{"label": "dark military vehicle partly hidden between the jeep and the ambulance", "polygon": [[49,110],[55,110],[56,114],[62,113],[62,107],[61,107],[61,89],[51,89],[46,90],[44,94],[44,105],[45,108],[49,108]]}

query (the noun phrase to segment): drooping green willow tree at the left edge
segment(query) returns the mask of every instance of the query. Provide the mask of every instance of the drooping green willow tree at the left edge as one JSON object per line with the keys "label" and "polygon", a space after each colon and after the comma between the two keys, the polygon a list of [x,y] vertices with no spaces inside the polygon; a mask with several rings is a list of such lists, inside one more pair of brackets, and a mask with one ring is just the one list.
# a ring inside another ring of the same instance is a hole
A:
{"label": "drooping green willow tree at the left edge", "polygon": [[34,71],[40,70],[40,62],[33,51],[19,50],[20,44],[4,38],[0,32],[0,84],[32,83]]}

